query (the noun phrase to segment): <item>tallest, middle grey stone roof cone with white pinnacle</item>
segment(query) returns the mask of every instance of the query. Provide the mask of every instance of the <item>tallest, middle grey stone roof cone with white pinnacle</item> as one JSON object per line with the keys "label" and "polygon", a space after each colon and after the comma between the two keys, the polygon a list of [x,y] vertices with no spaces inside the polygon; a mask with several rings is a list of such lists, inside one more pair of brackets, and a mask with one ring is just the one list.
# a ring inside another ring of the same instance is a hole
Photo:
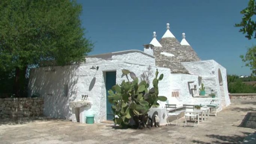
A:
{"label": "tallest, middle grey stone roof cone with white pinnacle", "polygon": [[156,65],[159,67],[170,68],[171,73],[188,74],[188,70],[180,63],[180,59],[185,57],[180,42],[171,33],[170,24],[167,25],[167,31],[160,40],[161,49],[153,49]]}

